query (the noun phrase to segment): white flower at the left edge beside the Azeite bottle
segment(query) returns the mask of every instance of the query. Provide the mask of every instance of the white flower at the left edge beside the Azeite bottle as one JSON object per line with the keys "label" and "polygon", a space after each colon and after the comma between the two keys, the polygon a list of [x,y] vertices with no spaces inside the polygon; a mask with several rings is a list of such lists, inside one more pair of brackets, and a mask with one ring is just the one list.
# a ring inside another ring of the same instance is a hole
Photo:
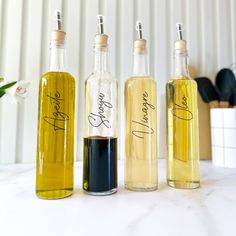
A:
{"label": "white flower at the left edge beside the Azeite bottle", "polygon": [[24,80],[18,81],[12,87],[5,90],[6,96],[13,102],[20,102],[28,95],[30,83]]}

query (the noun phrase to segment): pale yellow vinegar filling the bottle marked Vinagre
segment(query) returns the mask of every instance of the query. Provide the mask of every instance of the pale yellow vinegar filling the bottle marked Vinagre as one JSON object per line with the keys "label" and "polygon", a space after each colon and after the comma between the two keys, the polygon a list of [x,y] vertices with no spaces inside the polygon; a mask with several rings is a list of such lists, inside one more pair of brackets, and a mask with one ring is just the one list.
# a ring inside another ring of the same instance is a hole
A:
{"label": "pale yellow vinegar filling the bottle marked Vinagre", "polygon": [[131,77],[125,83],[125,187],[157,189],[156,82]]}

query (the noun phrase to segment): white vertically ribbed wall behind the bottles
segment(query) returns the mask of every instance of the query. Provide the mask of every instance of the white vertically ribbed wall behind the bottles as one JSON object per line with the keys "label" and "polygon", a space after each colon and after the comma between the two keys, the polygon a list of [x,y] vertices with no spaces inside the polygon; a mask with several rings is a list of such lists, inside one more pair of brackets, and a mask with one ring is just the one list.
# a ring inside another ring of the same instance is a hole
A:
{"label": "white vertically ribbed wall behind the bottles", "polygon": [[124,80],[132,72],[134,23],[143,21],[151,48],[150,71],[158,84],[159,157],[165,156],[164,92],[173,68],[175,23],[185,24],[190,63],[198,75],[214,79],[217,70],[236,62],[236,0],[0,0],[0,75],[31,82],[23,104],[0,100],[0,163],[35,160],[38,81],[48,68],[55,9],[64,15],[68,69],[77,78],[77,159],[82,158],[84,80],[93,66],[98,13],[106,17],[111,71],[119,80],[121,105]]}

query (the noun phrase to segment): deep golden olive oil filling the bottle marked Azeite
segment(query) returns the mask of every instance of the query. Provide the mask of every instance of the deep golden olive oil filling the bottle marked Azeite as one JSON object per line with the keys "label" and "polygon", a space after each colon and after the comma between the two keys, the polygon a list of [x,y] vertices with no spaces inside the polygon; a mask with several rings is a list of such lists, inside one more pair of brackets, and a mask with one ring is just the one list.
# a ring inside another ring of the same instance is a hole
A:
{"label": "deep golden olive oil filling the bottle marked Azeite", "polygon": [[36,194],[58,199],[72,194],[75,80],[48,72],[39,83]]}

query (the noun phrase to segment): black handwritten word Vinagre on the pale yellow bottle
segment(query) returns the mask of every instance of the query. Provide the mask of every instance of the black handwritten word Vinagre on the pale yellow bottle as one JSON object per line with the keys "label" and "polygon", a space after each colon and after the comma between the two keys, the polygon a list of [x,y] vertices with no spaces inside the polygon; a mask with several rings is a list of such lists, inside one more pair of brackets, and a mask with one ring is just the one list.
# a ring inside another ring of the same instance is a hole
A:
{"label": "black handwritten word Vinagre on the pale yellow bottle", "polygon": [[143,108],[142,108],[143,116],[141,121],[132,120],[132,123],[135,124],[135,130],[132,131],[132,134],[137,138],[144,139],[145,135],[154,133],[153,128],[149,125],[148,112],[149,109],[155,110],[155,107],[150,102],[148,102],[148,93],[146,91],[143,93],[142,102],[143,102]]}

